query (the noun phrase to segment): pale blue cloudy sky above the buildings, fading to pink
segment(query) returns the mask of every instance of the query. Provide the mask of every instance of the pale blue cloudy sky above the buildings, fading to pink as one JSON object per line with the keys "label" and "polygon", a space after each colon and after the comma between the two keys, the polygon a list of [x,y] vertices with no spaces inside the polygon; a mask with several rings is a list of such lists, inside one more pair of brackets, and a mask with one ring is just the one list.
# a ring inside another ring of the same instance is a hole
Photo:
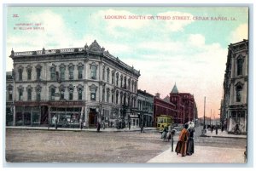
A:
{"label": "pale blue cloudy sky above the buildings, fading to pink", "polygon": [[[106,20],[105,15],[178,15],[191,20]],[[195,16],[229,20],[193,20]],[[177,83],[180,92],[195,95],[199,115],[207,96],[208,111],[216,116],[228,45],[248,34],[248,9],[241,7],[9,7],[7,21],[7,54],[11,48],[84,47],[96,39],[110,54],[141,71],[138,88],[164,98]],[[18,23],[41,23],[44,31],[14,30]],[[9,57],[7,63],[11,71]]]}

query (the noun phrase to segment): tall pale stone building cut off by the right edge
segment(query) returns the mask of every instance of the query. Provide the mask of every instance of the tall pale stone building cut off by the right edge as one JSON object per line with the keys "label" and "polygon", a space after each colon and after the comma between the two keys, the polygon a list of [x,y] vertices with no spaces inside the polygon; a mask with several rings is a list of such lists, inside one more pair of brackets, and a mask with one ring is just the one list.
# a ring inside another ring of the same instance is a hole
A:
{"label": "tall pale stone building cut off by the right edge", "polygon": [[248,41],[230,44],[224,74],[224,99],[221,103],[222,123],[229,132],[236,124],[247,132]]}

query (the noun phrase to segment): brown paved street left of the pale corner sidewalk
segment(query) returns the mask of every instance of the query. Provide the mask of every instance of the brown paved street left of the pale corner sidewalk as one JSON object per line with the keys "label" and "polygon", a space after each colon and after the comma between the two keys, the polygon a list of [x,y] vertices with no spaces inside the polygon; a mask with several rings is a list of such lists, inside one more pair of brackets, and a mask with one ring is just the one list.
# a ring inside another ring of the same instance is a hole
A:
{"label": "brown paved street left of the pale corner sidewalk", "polygon": [[147,162],[168,149],[155,132],[7,129],[8,162]]}

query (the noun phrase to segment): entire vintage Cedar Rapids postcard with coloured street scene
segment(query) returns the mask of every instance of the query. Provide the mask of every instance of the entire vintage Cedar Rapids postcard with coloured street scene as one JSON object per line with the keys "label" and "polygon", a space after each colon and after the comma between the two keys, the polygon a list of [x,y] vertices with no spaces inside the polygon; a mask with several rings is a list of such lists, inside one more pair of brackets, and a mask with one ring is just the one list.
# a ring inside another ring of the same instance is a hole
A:
{"label": "entire vintage Cedar Rapids postcard with coloured street scene", "polygon": [[247,163],[248,6],[6,6],[5,160]]}

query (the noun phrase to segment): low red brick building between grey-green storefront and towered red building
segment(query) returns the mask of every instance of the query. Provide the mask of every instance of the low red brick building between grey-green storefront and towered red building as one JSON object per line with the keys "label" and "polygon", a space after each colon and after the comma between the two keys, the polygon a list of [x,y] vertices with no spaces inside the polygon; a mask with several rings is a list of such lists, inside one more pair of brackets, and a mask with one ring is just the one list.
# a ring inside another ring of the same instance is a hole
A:
{"label": "low red brick building between grey-green storefront and towered red building", "polygon": [[154,127],[157,126],[157,117],[160,115],[166,115],[173,118],[175,123],[175,117],[177,116],[176,105],[168,100],[160,99],[160,94],[154,96]]}

